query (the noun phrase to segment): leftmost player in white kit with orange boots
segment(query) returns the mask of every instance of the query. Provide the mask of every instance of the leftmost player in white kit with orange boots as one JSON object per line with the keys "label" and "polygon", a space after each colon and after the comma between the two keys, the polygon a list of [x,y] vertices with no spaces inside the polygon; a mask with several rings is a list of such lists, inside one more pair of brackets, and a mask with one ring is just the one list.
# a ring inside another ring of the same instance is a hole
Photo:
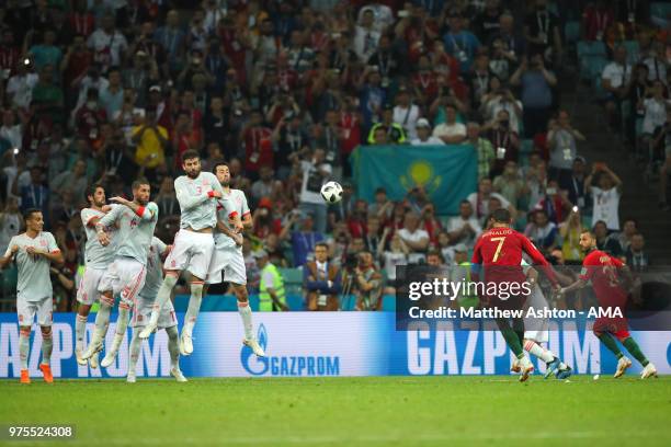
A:
{"label": "leftmost player in white kit with orange boots", "polygon": [[54,341],[52,340],[52,313],[54,311],[52,279],[49,264],[62,264],[62,253],[56,244],[56,239],[44,228],[44,218],[38,209],[29,209],[23,216],[25,232],[14,236],[0,259],[0,268],[4,268],[12,260],[19,267],[16,282],[16,313],[19,316],[19,354],[21,357],[21,383],[30,383],[27,369],[31,349],[31,330],[37,316],[37,324],[42,330],[42,363],[39,369],[44,381],[52,383],[54,376],[49,366]]}

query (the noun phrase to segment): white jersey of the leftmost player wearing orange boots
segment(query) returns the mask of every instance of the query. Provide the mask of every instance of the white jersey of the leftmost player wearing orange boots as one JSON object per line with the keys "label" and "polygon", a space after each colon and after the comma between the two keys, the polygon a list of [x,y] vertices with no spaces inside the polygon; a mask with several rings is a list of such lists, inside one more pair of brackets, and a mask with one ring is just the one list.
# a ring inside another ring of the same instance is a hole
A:
{"label": "white jersey of the leftmost player wearing orange boots", "polygon": [[49,261],[44,256],[29,254],[25,249],[33,247],[37,250],[57,253],[60,250],[56,244],[54,234],[42,231],[30,238],[26,233],[14,236],[7,248],[4,256],[9,256],[12,247],[19,245],[14,255],[19,267],[19,280],[16,282],[16,298],[25,301],[41,301],[53,295]]}

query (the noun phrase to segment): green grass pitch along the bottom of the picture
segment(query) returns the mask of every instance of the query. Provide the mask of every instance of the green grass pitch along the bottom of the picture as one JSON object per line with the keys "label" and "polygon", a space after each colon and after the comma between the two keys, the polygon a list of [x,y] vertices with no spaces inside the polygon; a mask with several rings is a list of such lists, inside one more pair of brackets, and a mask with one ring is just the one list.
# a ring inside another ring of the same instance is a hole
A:
{"label": "green grass pitch along the bottom of the picture", "polygon": [[671,377],[2,380],[11,423],[75,424],[60,444],[95,447],[670,446]]}

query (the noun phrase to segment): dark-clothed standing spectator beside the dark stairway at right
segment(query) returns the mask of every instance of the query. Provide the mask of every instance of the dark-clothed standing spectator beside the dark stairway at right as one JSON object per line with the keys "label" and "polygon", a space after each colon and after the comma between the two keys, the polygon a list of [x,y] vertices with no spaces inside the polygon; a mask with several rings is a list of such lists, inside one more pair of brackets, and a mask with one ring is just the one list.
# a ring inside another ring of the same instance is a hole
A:
{"label": "dark-clothed standing spectator beside the dark stairway at right", "polygon": [[550,153],[550,179],[559,184],[569,182],[572,174],[573,160],[578,156],[577,140],[584,141],[584,136],[571,126],[568,112],[560,111],[557,126],[547,135]]}

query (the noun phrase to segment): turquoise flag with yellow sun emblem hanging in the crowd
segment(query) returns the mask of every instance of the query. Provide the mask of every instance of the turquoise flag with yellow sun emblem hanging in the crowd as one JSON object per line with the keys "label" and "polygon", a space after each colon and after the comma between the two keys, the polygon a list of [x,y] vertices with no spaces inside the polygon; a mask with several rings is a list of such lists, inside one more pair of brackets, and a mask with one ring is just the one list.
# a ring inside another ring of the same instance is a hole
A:
{"label": "turquoise flag with yellow sun emblem hanging in the crowd", "polygon": [[437,214],[455,215],[477,187],[477,152],[470,145],[360,146],[351,162],[357,196],[368,203],[380,186],[393,200],[421,186]]}

